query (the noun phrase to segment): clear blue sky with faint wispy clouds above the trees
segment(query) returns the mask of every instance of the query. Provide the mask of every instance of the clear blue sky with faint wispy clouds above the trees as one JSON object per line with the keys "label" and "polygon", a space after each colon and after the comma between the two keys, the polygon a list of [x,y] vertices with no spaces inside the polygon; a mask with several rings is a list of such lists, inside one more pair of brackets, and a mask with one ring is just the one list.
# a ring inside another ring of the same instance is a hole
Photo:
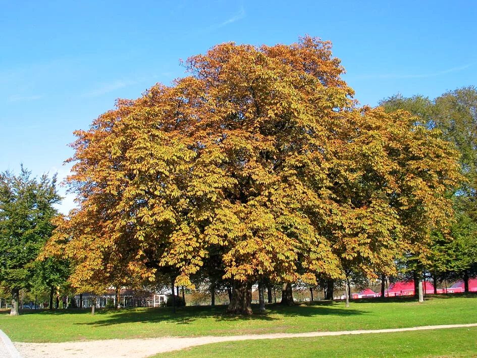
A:
{"label": "clear blue sky with faint wispy clouds above the trees", "polygon": [[[361,104],[477,85],[477,2],[0,0],[0,171],[68,173],[75,129],[217,43],[331,40]],[[63,189],[62,189],[63,190]],[[61,210],[73,205],[68,196]]]}

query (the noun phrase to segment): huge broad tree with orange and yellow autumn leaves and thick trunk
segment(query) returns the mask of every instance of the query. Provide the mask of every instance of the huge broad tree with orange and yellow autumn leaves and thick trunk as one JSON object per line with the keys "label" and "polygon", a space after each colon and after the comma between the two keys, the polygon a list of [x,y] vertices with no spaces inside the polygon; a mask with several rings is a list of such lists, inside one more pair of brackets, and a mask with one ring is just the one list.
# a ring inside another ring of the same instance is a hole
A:
{"label": "huge broad tree with orange and yellow autumn leaves and thick trunk", "polygon": [[75,263],[75,286],[192,286],[214,256],[249,313],[263,277],[390,274],[446,227],[456,151],[406,112],[357,108],[330,42],[224,43],[185,67],[75,133],[79,209],[43,253]]}

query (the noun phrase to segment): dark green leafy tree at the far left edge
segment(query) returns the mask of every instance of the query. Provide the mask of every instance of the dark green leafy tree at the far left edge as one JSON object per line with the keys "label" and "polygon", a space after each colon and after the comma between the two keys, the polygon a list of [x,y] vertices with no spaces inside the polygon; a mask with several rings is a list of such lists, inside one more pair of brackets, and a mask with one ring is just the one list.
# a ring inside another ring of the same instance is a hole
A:
{"label": "dark green leafy tree at the far left edge", "polygon": [[0,284],[12,293],[11,315],[18,315],[19,291],[33,282],[35,260],[54,226],[54,204],[60,201],[56,176],[32,178],[23,166],[19,175],[0,174]]}

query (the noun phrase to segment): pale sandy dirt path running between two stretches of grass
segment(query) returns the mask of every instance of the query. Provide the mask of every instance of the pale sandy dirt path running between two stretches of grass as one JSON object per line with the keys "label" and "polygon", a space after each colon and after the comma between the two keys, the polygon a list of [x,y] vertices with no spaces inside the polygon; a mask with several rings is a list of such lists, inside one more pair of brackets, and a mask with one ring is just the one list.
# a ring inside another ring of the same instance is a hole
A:
{"label": "pale sandy dirt path running between two stretches of grass", "polygon": [[78,341],[64,343],[14,343],[24,358],[143,358],[156,353],[169,352],[195,345],[208,343],[238,341],[247,339],[276,339],[295,337],[340,336],[345,334],[388,333],[419,331],[428,329],[477,327],[477,323],[462,325],[421,326],[410,328],[373,329],[338,332],[273,333],[250,334],[241,336],[206,336],[206,337],[162,337],[146,339],[107,339],[97,341]]}

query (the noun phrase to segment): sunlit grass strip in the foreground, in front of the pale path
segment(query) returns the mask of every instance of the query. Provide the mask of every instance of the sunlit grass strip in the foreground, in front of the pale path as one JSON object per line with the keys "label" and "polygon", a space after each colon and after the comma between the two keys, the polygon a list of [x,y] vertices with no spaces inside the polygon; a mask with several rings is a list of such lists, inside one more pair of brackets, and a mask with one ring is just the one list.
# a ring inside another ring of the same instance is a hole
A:
{"label": "sunlit grass strip in the foreground, in front of the pale path", "polygon": [[474,357],[477,327],[333,337],[222,342],[158,354],[168,357]]}

